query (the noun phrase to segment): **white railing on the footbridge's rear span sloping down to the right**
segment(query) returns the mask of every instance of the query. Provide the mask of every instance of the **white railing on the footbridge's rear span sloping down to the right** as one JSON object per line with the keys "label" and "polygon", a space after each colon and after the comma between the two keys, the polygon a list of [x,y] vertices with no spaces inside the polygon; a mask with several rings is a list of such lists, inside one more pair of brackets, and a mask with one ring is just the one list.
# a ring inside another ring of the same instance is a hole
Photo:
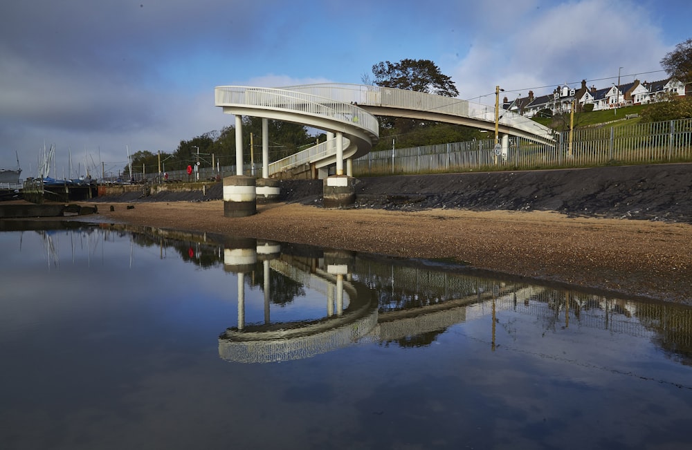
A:
{"label": "white railing on the footbridge's rear span sloping down to the right", "polygon": [[[444,95],[434,95],[403,89],[364,86],[361,84],[325,83],[287,86],[284,89],[307,95],[332,98],[338,102],[353,103],[362,106],[381,106],[385,108],[425,111],[462,118],[482,120],[495,124],[495,107],[480,103],[468,102]],[[529,118],[507,110],[498,113],[499,124],[537,135],[540,138],[553,140],[552,129],[534,122]]]}

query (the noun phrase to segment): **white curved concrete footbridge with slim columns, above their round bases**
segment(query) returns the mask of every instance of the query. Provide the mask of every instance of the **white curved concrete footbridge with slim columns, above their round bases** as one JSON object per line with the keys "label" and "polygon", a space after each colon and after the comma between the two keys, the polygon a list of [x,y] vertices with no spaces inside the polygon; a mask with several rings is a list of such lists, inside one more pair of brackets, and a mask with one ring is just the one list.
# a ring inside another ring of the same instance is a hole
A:
{"label": "white curved concrete footbridge with slim columns, above their round bases", "polygon": [[[552,129],[511,111],[498,111],[496,121],[493,106],[380,86],[334,83],[284,88],[217,86],[215,104],[224,113],[235,115],[237,148],[242,144],[242,116],[264,119],[263,178],[301,165],[320,169],[335,163],[336,173],[341,175],[344,160],[347,174],[351,175],[349,162],[367,154],[379,139],[376,115],[432,120],[488,131],[495,131],[497,126],[503,137],[520,136],[543,144],[555,142]],[[269,164],[268,119],[324,130],[327,141]],[[505,142],[507,138],[502,139],[502,145]],[[237,162],[242,167],[242,156],[237,156]]]}

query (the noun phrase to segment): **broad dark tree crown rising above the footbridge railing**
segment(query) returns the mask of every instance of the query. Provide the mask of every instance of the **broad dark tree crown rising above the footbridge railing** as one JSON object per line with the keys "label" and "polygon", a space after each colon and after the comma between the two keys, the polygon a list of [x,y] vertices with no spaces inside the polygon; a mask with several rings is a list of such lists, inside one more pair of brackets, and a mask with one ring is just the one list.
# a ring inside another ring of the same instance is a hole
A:
{"label": "broad dark tree crown rising above the footbridge railing", "polygon": [[379,62],[372,66],[374,83],[384,88],[456,97],[454,82],[444,75],[430,59],[401,59],[400,62]]}

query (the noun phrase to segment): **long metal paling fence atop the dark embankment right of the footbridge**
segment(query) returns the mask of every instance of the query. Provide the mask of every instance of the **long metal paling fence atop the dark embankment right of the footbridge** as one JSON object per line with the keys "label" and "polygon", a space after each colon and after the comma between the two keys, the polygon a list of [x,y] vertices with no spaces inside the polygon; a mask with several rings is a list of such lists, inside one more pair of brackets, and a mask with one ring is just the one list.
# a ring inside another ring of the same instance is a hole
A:
{"label": "long metal paling fence atop the dark embankment right of the footbridge", "polygon": [[559,133],[556,145],[510,138],[371,151],[354,160],[354,176],[421,174],[493,169],[548,169],[609,164],[692,161],[692,119],[602,126]]}

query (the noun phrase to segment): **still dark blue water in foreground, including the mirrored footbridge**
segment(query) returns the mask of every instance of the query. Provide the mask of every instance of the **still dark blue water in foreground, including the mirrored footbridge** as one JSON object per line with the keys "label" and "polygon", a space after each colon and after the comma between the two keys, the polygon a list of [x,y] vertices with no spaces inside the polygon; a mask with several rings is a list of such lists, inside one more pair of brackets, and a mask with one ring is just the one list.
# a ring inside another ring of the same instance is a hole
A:
{"label": "still dark blue water in foreground, including the mirrored footbridge", "polygon": [[2,449],[692,446],[689,307],[284,243],[14,224]]}

